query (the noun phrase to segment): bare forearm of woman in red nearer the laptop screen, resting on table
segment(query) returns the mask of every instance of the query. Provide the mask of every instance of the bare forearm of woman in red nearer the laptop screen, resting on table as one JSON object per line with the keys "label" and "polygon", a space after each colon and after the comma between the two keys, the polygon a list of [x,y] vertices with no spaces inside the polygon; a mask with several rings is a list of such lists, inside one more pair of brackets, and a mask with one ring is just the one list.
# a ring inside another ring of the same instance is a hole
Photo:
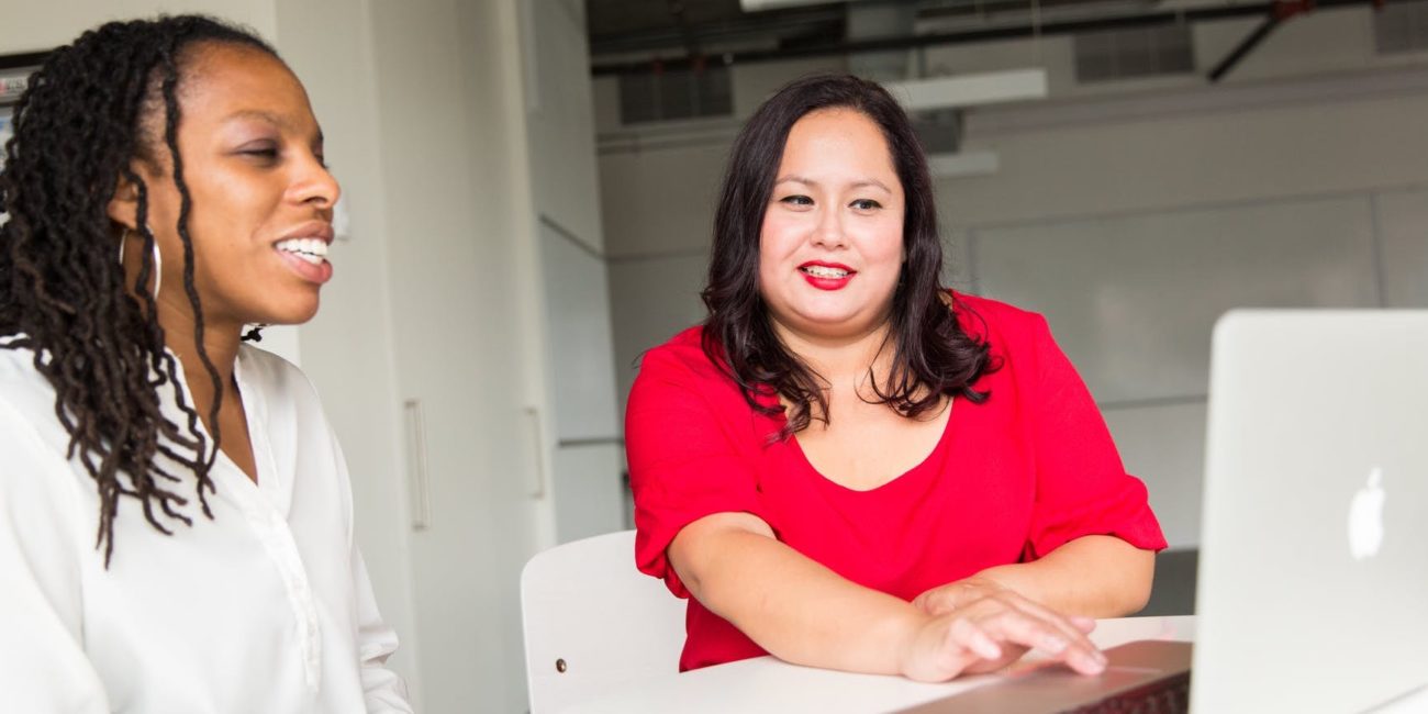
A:
{"label": "bare forearm of woman in red nearer the laptop screen, resting on table", "polygon": [[988,578],[1052,610],[1087,617],[1121,617],[1145,607],[1155,554],[1114,536],[1085,536],[1031,563],[997,565]]}

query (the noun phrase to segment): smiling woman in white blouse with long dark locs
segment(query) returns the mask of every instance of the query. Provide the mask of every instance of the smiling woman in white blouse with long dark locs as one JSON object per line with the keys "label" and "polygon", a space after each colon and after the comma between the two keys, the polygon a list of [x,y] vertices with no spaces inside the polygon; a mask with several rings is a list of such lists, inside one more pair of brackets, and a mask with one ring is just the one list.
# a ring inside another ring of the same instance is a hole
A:
{"label": "smiling woman in white blouse with long dark locs", "polygon": [[110,23],[14,111],[0,200],[6,711],[410,711],[296,367],[331,277],[303,86],[203,17]]}

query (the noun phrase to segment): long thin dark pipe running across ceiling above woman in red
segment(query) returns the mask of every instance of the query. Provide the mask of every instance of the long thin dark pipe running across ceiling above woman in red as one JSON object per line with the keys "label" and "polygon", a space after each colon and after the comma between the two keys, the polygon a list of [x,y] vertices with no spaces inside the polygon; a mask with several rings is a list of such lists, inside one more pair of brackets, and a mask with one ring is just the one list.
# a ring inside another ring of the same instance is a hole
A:
{"label": "long thin dark pipe running across ceiling above woman in red", "polygon": [[[763,61],[780,61],[798,57],[827,57],[837,54],[851,54],[877,50],[910,50],[917,47],[932,47],[940,44],[970,44],[995,40],[1017,40],[1035,36],[1091,33],[1098,30],[1121,30],[1127,27],[1154,27],[1175,23],[1200,23],[1212,20],[1231,20],[1240,17],[1267,17],[1275,11],[1278,3],[1255,3],[1244,6],[1202,7],[1192,10],[1174,10],[1164,13],[1141,13],[1120,17],[1097,17],[1087,20],[1064,20],[1042,23],[1038,26],[1022,24],[1012,27],[988,27],[985,30],[962,30],[951,33],[928,33],[904,37],[878,37],[864,40],[848,40],[804,47],[783,47],[774,50],[741,50],[730,53],[715,53],[708,57],[660,57],[643,61],[613,61],[600,63],[590,67],[590,73],[600,77],[608,74],[648,74],[660,70],[684,70],[698,63],[723,64],[754,64]],[[1377,4],[1375,0],[1318,0],[1315,7],[1361,7]],[[1247,50],[1248,51],[1248,50]]]}

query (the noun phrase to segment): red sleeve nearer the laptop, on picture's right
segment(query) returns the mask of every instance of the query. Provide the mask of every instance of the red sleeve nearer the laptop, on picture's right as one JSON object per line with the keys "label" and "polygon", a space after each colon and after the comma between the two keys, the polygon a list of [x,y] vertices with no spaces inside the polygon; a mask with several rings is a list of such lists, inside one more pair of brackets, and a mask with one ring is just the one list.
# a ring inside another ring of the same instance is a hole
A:
{"label": "red sleeve nearer the laptop, on picture's right", "polygon": [[1115,536],[1138,548],[1165,548],[1145,484],[1125,473],[1090,390],[1055,344],[1045,318],[1032,317],[1025,354],[1012,356],[1022,411],[1031,424],[1037,478],[1022,558],[1040,558],[1082,536]]}

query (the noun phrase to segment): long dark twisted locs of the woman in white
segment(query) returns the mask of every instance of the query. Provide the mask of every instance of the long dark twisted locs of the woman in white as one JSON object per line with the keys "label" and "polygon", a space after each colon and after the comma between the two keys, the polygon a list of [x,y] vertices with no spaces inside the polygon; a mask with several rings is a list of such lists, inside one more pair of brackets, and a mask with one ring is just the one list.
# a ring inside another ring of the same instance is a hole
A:
{"label": "long dark twisted locs of the woman in white", "polygon": [[[109,565],[121,497],[140,504],[159,531],[191,526],[184,478],[156,463],[164,456],[193,473],[198,511],[213,518],[208,473],[218,454],[218,370],[203,341],[203,310],[193,284],[193,200],[178,154],[178,91],[183,69],[200,43],[273,51],[241,29],[200,16],[107,23],[51,53],[30,77],[14,107],[6,144],[0,201],[0,343],[34,351],[34,368],[54,387],[54,414],[99,487],[96,547]],[[149,187],[133,160],[161,166],[167,151],[180,194],[177,220],[184,250],[184,291],[194,313],[198,357],[213,381],[211,444],[184,397],[177,366],[164,350],[149,280],[154,236]],[[119,240],[107,206],[120,178],[137,191],[143,267],[130,290],[116,260]],[[139,296],[136,300],[133,296]],[[187,417],[180,427],[161,410],[160,387],[171,384]]]}

